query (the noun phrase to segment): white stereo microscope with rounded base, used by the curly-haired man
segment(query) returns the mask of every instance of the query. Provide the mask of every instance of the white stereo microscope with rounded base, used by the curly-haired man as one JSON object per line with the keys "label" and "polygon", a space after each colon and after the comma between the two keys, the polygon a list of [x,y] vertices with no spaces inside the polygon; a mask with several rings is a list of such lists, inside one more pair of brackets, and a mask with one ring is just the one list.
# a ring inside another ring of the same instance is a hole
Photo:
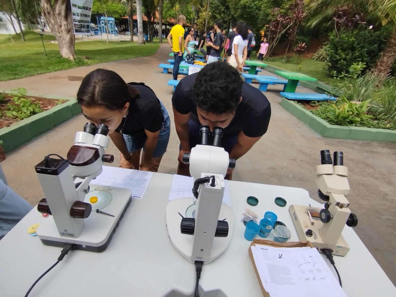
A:
{"label": "white stereo microscope with rounded base, used by the curly-haired man", "polygon": [[[229,159],[220,147],[223,129],[213,129],[213,145],[208,145],[209,133],[209,126],[201,126],[201,145],[183,155],[194,178],[191,197],[175,199],[166,207],[169,238],[191,263],[208,264],[219,257],[227,249],[234,230],[234,211],[222,202],[224,176],[228,168],[235,168],[235,160]],[[194,209],[191,217],[187,217],[186,209]],[[182,218],[181,213],[186,213],[186,217]]]}

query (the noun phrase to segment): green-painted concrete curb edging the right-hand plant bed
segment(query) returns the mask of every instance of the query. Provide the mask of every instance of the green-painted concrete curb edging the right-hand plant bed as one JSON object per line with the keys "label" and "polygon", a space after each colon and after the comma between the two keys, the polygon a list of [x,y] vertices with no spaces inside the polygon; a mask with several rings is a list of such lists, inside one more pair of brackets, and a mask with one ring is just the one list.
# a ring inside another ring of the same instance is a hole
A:
{"label": "green-painted concrete curb edging the right-hand plant bed", "polygon": [[331,125],[294,101],[282,98],[280,105],[323,137],[396,143],[394,130]]}

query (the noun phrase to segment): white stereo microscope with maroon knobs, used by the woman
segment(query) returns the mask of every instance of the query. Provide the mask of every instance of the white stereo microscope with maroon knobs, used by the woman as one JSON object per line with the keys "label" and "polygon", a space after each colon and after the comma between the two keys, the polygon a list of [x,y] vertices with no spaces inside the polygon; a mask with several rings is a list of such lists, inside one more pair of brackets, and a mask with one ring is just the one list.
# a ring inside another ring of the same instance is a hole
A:
{"label": "white stereo microscope with maroon knobs, used by the woman", "polygon": [[106,125],[87,123],[76,133],[67,160],[49,154],[35,166],[46,197],[37,210],[52,215],[37,229],[42,243],[60,247],[67,243],[97,252],[108,246],[131,202],[131,190],[89,185],[102,173],[103,162],[114,161],[105,154],[108,132]]}

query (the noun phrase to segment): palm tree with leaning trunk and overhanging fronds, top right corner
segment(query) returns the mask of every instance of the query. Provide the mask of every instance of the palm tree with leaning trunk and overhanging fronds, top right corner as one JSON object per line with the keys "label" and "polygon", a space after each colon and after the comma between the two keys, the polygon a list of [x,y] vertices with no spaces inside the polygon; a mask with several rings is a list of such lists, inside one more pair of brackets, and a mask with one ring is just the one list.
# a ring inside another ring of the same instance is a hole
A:
{"label": "palm tree with leaning trunk and overhanging fronds, top right corner", "polygon": [[371,70],[385,79],[396,59],[396,0],[310,0],[308,5],[310,11],[308,28],[314,28],[331,20],[335,8],[339,6],[350,6],[356,11],[365,13],[367,19],[373,23],[392,23],[393,31],[388,44]]}

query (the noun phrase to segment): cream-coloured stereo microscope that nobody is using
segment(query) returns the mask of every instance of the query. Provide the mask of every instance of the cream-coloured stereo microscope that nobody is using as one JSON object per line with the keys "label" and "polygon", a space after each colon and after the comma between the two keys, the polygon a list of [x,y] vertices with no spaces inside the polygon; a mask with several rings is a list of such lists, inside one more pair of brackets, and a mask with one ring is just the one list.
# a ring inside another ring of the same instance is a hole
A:
{"label": "cream-coloured stereo microscope that nobody is using", "polygon": [[343,152],[334,152],[334,166],[329,150],[321,150],[321,165],[316,166],[319,198],[326,201],[324,209],[291,205],[289,212],[301,241],[312,246],[331,249],[333,255],[345,256],[349,251],[341,232],[346,224],[356,227],[358,218],[350,212],[345,195],[349,193],[348,168],[343,166]]}

